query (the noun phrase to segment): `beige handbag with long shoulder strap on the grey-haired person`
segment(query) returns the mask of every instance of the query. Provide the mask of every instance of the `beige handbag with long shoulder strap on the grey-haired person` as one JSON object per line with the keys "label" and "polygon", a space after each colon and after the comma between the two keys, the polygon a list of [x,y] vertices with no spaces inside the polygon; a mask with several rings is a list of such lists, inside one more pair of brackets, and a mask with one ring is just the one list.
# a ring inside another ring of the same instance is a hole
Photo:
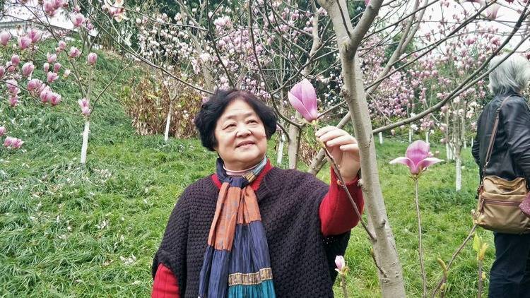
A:
{"label": "beige handbag with long shoulder strap on the grey-haired person", "polygon": [[[507,98],[502,101],[502,105]],[[497,109],[495,124],[486,153],[486,160],[483,169],[490,162],[493,151],[493,143],[497,135],[499,126],[499,112]],[[473,210],[473,222],[486,230],[502,232],[508,234],[526,234],[530,232],[530,218],[526,217],[519,209],[519,204],[524,201],[528,189],[526,188],[526,179],[517,178],[506,180],[497,176],[485,176],[481,179],[481,186],[478,187],[478,205]]]}

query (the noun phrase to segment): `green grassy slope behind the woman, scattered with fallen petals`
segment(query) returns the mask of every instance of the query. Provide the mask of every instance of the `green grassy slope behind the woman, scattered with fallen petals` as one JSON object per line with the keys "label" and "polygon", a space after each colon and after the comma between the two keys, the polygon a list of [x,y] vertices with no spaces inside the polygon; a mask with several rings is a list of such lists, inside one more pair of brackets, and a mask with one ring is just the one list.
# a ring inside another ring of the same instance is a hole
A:
{"label": "green grassy slope behind the woman, scattered with fallen petals", "polygon": [[[101,88],[119,62],[103,55],[100,61],[105,68],[96,85]],[[76,105],[76,96],[71,97],[66,106]],[[192,181],[213,171],[216,155],[196,140],[165,144],[161,136],[136,136],[117,101],[107,95],[103,103],[94,115],[86,167],[78,165],[81,117],[66,108],[18,111],[31,115],[14,131],[28,135],[25,150],[0,151],[0,297],[149,295],[151,259],[175,199]],[[0,117],[3,121],[8,119]],[[412,181],[405,167],[388,165],[405,148],[406,143],[386,141],[378,145],[378,161],[408,296],[419,297]],[[441,275],[436,258],[447,261],[471,227],[477,173],[469,150],[464,155],[460,193],[453,190],[454,164],[432,167],[420,181],[430,287]],[[269,156],[276,160],[272,150]],[[324,180],[327,176],[327,170],[320,174]],[[480,233],[493,246],[491,234]],[[346,252],[349,297],[379,296],[369,251],[363,230],[355,228]],[[486,258],[488,268],[493,249]],[[447,297],[471,297],[476,284],[476,260],[466,246],[449,273]],[[341,297],[338,282],[336,294]]]}

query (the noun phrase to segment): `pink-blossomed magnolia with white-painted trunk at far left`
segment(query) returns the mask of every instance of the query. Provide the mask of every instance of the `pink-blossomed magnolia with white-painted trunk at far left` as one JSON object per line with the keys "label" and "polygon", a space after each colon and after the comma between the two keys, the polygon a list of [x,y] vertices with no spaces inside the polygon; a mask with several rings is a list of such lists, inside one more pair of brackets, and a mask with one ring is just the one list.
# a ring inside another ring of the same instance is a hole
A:
{"label": "pink-blossomed magnolia with white-painted trunk at far left", "polygon": [[[80,162],[85,164],[90,117],[101,95],[117,76],[94,95],[93,81],[98,55],[94,52],[83,53],[76,47],[76,44],[86,44],[83,39],[90,36],[92,23],[88,16],[81,13],[81,8],[72,7],[63,0],[8,2],[4,4],[3,15],[15,20],[19,16],[26,16],[28,30],[0,32],[2,56],[6,61],[4,66],[0,66],[0,81],[7,95],[7,101],[3,100],[1,104],[11,109],[30,104],[48,109],[47,106],[56,107],[65,100],[78,102],[75,112],[84,118]],[[57,20],[70,29],[54,25],[53,22]],[[76,37],[80,40],[76,41]],[[44,50],[48,48],[51,50]],[[63,98],[59,88],[56,88],[61,81],[73,81],[81,98]],[[20,148],[22,144],[23,141],[13,136],[7,136],[4,140],[7,148]]]}

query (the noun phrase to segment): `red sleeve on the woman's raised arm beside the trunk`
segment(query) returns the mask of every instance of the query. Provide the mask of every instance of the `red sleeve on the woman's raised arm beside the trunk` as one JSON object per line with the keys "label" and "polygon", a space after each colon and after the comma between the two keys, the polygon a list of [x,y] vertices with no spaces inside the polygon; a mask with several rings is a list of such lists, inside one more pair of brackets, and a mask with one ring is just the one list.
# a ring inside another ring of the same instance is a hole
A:
{"label": "red sleeve on the woman's raised arm beside the trunk", "polygon": [[[353,201],[357,205],[360,214],[363,214],[364,200],[363,191],[358,186],[359,178],[348,182],[346,187],[350,191]],[[329,191],[324,196],[319,206],[319,217],[321,230],[324,236],[338,235],[348,232],[358,224],[359,218],[351,205],[348,194],[338,185],[337,177],[331,169],[331,183]]]}

